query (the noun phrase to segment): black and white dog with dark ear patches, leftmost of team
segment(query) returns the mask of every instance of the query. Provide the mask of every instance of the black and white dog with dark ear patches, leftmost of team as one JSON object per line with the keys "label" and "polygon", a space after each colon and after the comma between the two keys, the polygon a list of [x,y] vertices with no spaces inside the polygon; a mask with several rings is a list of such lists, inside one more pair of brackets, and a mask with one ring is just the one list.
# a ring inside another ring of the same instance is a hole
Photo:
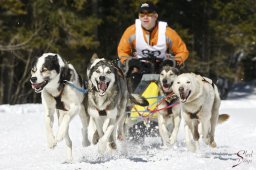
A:
{"label": "black and white dog with dark ear patches, leftmost of team", "polygon": [[[83,146],[88,146],[87,125],[89,116],[83,105],[84,94],[65,82],[69,81],[82,88],[82,79],[71,64],[60,55],[45,53],[35,58],[31,69],[31,85],[35,92],[41,92],[45,109],[45,125],[49,148],[65,139],[67,145],[67,162],[72,161],[72,141],[69,137],[69,123],[79,113],[82,121]],[[56,136],[53,132],[54,113],[58,115],[59,128]]]}

